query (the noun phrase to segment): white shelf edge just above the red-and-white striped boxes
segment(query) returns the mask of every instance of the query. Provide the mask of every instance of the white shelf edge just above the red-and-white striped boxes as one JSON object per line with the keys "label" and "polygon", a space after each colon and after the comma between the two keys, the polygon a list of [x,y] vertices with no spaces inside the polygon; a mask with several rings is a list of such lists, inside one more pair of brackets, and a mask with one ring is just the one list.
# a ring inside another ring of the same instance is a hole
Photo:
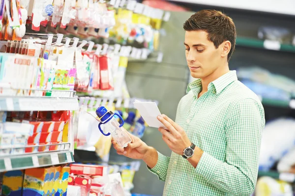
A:
{"label": "white shelf edge just above the red-and-white striped boxes", "polygon": [[0,97],[0,111],[60,111],[78,109],[78,98]]}

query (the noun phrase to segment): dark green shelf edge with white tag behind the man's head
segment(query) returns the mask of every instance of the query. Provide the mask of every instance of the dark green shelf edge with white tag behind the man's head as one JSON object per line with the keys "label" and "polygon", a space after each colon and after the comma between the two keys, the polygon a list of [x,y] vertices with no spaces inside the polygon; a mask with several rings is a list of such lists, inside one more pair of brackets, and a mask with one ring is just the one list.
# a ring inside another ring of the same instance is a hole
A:
{"label": "dark green shelf edge with white tag behind the man's head", "polygon": [[295,52],[295,46],[293,45],[280,44],[276,41],[259,40],[246,37],[237,37],[236,46]]}

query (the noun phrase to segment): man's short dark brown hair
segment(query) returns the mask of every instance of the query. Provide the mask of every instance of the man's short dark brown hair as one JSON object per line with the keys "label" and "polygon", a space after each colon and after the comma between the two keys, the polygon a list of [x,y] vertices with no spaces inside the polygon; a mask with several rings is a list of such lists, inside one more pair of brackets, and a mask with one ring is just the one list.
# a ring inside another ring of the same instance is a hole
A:
{"label": "man's short dark brown hair", "polygon": [[236,26],[229,16],[216,10],[201,10],[185,21],[183,28],[186,31],[206,31],[208,40],[213,42],[216,49],[224,41],[230,41],[232,48],[227,59],[230,60],[236,47]]}

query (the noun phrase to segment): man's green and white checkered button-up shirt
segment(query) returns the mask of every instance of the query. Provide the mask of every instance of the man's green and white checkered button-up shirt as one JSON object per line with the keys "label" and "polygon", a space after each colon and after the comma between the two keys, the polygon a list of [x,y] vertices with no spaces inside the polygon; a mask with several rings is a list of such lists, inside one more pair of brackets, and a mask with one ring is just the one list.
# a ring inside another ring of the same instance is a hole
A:
{"label": "man's green and white checkered button-up shirt", "polygon": [[158,152],[150,171],[166,181],[164,196],[249,196],[257,181],[264,108],[236,71],[211,82],[198,98],[201,90],[201,79],[188,85],[176,117],[204,151],[197,168],[174,152]]}

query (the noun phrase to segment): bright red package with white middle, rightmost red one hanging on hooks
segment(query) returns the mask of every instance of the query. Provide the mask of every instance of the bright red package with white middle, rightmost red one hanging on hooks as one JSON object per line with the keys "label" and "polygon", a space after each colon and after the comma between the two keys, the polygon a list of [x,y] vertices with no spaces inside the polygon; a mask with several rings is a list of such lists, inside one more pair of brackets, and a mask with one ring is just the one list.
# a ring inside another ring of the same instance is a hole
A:
{"label": "bright red package with white middle, rightmost red one hanging on hooks", "polygon": [[99,88],[100,90],[109,90],[110,81],[109,81],[109,68],[108,68],[108,57],[101,56],[99,58],[99,70],[100,70],[100,81]]}

